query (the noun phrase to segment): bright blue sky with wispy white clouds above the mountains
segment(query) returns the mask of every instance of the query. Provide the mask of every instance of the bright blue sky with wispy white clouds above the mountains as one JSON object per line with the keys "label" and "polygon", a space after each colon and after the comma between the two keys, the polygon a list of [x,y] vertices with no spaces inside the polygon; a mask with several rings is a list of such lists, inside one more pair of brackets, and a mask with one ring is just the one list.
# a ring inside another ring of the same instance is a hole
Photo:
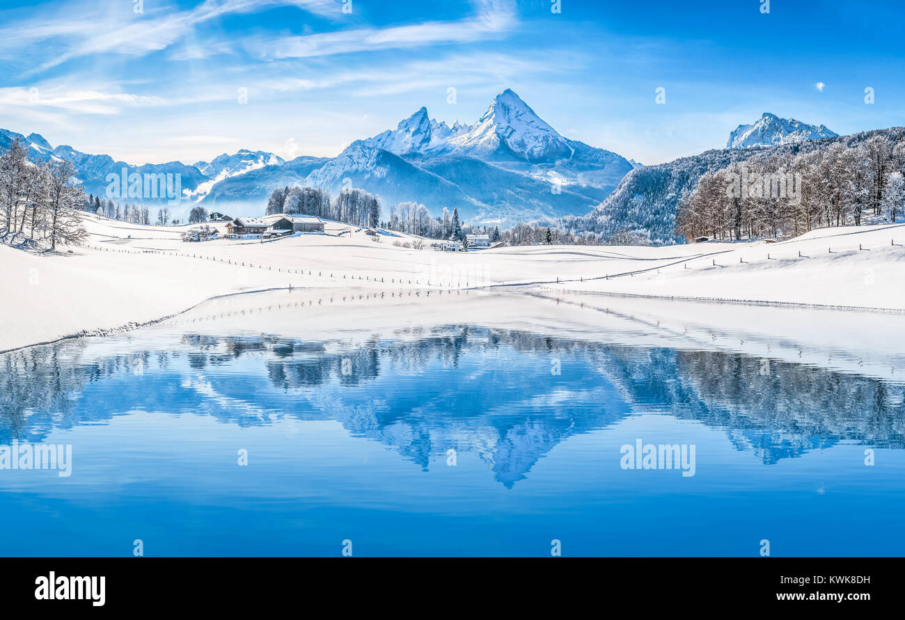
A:
{"label": "bright blue sky with wispy white clouds above the mountains", "polygon": [[334,156],[423,105],[471,123],[506,88],[643,163],[765,111],[905,125],[900,2],[763,2],[4,0],[0,127],[135,164]]}

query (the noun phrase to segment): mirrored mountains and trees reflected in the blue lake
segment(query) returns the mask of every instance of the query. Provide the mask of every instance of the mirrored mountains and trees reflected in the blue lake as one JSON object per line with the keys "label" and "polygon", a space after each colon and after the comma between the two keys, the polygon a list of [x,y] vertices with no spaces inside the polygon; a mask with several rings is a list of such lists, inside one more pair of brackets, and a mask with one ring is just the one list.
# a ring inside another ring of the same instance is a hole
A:
{"label": "mirrored mountains and trees reflected in the blue lake", "polygon": [[[167,333],[0,356],[0,443],[148,411],[243,427],[335,420],[429,470],[476,453],[507,487],[567,438],[635,413],[719,429],[777,463],[840,442],[902,447],[899,382],[734,352],[550,339],[472,326],[364,343]],[[143,347],[143,348],[142,348]]]}

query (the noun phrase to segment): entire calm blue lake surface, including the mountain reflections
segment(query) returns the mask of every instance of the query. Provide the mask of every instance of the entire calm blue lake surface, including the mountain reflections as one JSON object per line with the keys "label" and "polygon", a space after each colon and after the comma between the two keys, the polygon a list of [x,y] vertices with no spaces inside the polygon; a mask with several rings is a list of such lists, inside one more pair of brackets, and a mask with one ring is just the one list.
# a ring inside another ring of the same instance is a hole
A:
{"label": "entire calm blue lake surface, including the mountain reflections", "polygon": [[[0,444],[72,446],[69,477],[0,471],[0,554],[905,554],[898,382],[480,326],[184,329],[0,356]],[[624,469],[639,439],[694,475]]]}

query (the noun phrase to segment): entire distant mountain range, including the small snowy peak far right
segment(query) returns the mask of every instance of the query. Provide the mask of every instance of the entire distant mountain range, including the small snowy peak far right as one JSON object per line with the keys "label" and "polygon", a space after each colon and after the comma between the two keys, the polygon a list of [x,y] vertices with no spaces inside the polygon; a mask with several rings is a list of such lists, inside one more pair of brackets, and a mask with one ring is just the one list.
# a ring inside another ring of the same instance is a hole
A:
{"label": "entire distant mountain range, including the small snowy peak far right", "polygon": [[[356,140],[337,157],[286,161],[242,149],[194,166],[177,161],[132,166],[108,155],[52,148],[38,134],[26,137],[6,129],[0,129],[0,147],[19,138],[33,161],[69,158],[85,191],[100,196],[106,196],[107,176],[123,168],[128,174],[179,174],[183,200],[171,211],[180,217],[196,204],[230,215],[259,215],[276,187],[319,186],[336,195],[351,185],[380,196],[385,215],[391,205],[414,201],[434,215],[456,207],[474,224],[566,219],[576,232],[631,228],[645,231],[655,243],[672,243],[675,204],[703,172],[746,158],[748,152],[834,137],[824,125],[765,113],[751,125],[739,125],[724,151],[644,167],[563,137],[507,89],[472,125],[449,125],[421,108],[395,129]],[[147,197],[129,201],[163,203]]]}

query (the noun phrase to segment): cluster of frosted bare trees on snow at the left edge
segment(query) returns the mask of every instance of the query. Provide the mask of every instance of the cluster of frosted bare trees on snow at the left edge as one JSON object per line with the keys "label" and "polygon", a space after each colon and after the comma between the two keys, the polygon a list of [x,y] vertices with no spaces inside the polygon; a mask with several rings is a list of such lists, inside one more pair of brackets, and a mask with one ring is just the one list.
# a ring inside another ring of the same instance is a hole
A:
{"label": "cluster of frosted bare trees on snow at the left edge", "polygon": [[33,164],[28,148],[14,139],[0,151],[0,217],[4,234],[25,234],[30,239],[82,243],[87,232],[80,211],[86,204],[71,162],[52,159]]}

